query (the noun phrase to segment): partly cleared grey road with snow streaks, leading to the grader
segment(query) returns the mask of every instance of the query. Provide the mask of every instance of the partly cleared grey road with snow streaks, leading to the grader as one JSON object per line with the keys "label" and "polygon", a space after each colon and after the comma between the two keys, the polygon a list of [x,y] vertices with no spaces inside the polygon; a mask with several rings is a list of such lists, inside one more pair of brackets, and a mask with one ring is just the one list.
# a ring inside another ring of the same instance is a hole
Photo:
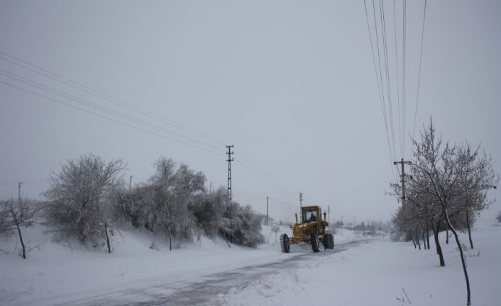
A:
{"label": "partly cleared grey road with snow streaks, leading to the grader", "polygon": [[[97,297],[90,297],[88,300],[74,301],[77,305],[212,305],[211,301],[216,300],[220,294],[228,292],[231,288],[241,288],[251,283],[253,280],[263,278],[279,271],[294,269],[302,263],[309,262],[312,258],[333,256],[335,253],[346,250],[359,244],[360,241],[353,241],[347,244],[339,244],[334,250],[320,251],[319,253],[301,252],[297,256],[286,258],[282,261],[275,261],[255,266],[245,266],[231,271],[204,275],[198,280],[185,281],[181,283],[167,283],[155,285],[153,288],[141,290],[124,290],[119,293],[109,293]],[[131,297],[130,299],[128,297]],[[134,302],[130,302],[133,300]],[[141,300],[141,301],[138,301]]]}

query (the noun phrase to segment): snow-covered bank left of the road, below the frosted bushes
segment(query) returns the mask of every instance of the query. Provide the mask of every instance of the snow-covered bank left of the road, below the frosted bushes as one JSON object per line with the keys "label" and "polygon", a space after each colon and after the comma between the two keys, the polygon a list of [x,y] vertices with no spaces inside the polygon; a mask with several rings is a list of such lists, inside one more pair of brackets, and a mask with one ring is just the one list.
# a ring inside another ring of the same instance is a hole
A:
{"label": "snow-covered bank left of the road, below the frosted bushes", "polygon": [[[113,253],[53,243],[48,229],[23,229],[28,246],[38,246],[23,260],[16,253],[17,236],[0,238],[0,305],[65,305],[89,297],[123,295],[131,290],[149,290],[148,296],[127,295],[128,302],[141,302],[151,295],[169,295],[177,288],[199,280],[202,275],[260,265],[311,252],[297,248],[295,253],[280,252],[271,226],[263,226],[270,244],[258,249],[232,246],[221,240],[202,238],[201,244],[188,244],[168,251],[150,248],[152,236],[138,231],[122,231],[115,237]],[[287,232],[282,227],[280,232]],[[346,235],[345,235],[346,236]],[[346,236],[346,239],[352,239]],[[345,240],[346,240],[345,239]],[[152,289],[154,288],[154,289]],[[151,293],[155,290],[155,293]],[[122,297],[123,298],[123,297]]]}

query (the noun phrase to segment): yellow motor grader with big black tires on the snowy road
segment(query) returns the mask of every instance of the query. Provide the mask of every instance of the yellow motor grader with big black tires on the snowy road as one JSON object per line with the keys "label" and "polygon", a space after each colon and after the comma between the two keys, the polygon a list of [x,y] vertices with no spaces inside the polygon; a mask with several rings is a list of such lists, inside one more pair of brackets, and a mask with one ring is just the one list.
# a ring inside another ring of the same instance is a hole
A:
{"label": "yellow motor grader with big black tires on the snowy road", "polygon": [[319,206],[301,207],[301,223],[297,221],[292,224],[292,237],[287,234],[280,235],[280,246],[282,252],[289,253],[291,244],[310,244],[312,250],[316,253],[319,251],[319,245],[322,244],[325,250],[334,248],[334,236],[326,232],[326,227],[329,222],[325,221],[326,212],[324,212],[324,220],[321,218],[321,208]]}

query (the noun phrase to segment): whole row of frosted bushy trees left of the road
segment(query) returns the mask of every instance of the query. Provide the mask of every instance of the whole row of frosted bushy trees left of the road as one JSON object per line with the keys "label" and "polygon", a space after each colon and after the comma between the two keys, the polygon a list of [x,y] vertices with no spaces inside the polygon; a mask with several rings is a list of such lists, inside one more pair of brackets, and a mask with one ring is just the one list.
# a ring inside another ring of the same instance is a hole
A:
{"label": "whole row of frosted bushy trees left of the road", "polygon": [[[60,239],[76,238],[85,245],[106,246],[111,253],[114,233],[133,226],[168,239],[170,250],[173,242],[179,245],[199,240],[202,235],[221,236],[228,246],[256,247],[265,241],[260,234],[264,216],[249,206],[230,203],[223,188],[207,190],[203,173],[160,158],[148,182],[127,188],[121,178],[125,167],[122,160],[106,162],[90,154],[67,160],[59,173],[51,173],[47,201],[40,207]],[[23,202],[12,201],[1,207],[0,231],[18,228],[12,212],[22,210]],[[18,225],[31,225],[34,214],[35,210],[23,219],[25,224]],[[20,230],[19,234],[21,238]]]}

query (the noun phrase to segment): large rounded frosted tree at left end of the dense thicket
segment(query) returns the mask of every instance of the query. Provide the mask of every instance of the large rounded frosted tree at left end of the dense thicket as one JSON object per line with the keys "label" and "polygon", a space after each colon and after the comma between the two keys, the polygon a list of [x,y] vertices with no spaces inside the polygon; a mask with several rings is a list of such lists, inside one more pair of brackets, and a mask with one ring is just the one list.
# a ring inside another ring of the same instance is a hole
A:
{"label": "large rounded frosted tree at left end of the dense thicket", "polygon": [[75,236],[82,244],[106,243],[109,247],[110,209],[108,197],[114,190],[122,160],[104,161],[97,155],[67,160],[60,173],[50,175],[47,217],[62,236]]}

